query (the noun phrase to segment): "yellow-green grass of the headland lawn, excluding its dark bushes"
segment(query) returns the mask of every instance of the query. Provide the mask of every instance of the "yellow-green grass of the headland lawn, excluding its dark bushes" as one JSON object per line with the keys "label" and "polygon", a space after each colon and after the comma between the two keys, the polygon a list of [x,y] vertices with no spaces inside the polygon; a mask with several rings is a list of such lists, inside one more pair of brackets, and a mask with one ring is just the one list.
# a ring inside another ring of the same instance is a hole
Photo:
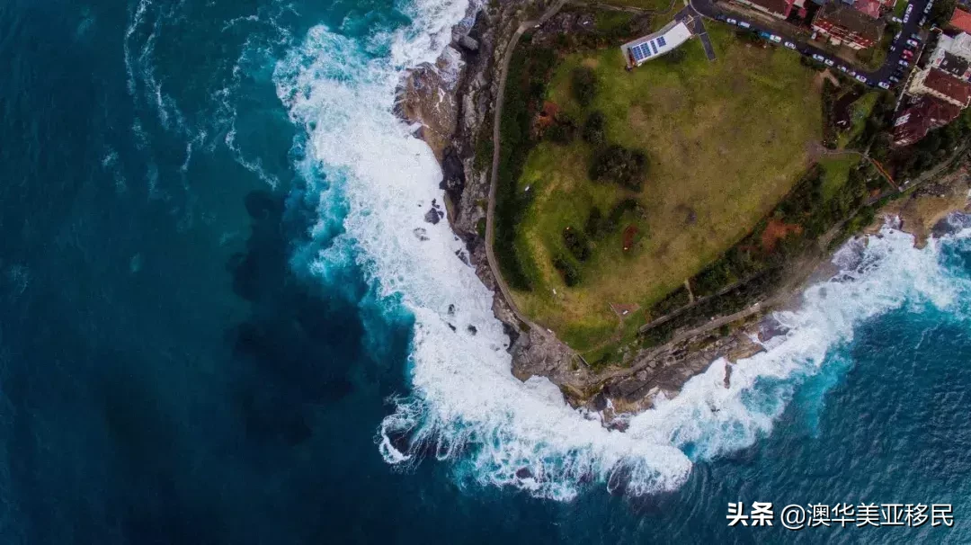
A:
{"label": "yellow-green grass of the headland lawn, excluding its dark bushes", "polygon": [[[516,247],[532,290],[514,296],[578,350],[630,334],[635,322],[643,324],[643,309],[743,238],[796,182],[808,144],[820,139],[816,73],[791,51],[749,46],[723,26],[708,26],[715,62],[691,40],[680,61],[661,57],[629,73],[616,48],[569,55],[554,69],[547,98],[558,116],[583,124],[599,110],[608,142],[649,157],[639,193],[588,180],[593,151],[579,138],[542,142],[519,178],[517,190],[532,201]],[[599,82],[587,108],[570,89],[579,66],[592,68]],[[622,214],[585,261],[571,257],[581,282],[567,288],[552,265],[569,255],[564,229],[582,231],[594,207],[607,216],[628,198],[641,209]],[[632,243],[626,251],[625,242]],[[615,312],[611,305],[622,306]]]}

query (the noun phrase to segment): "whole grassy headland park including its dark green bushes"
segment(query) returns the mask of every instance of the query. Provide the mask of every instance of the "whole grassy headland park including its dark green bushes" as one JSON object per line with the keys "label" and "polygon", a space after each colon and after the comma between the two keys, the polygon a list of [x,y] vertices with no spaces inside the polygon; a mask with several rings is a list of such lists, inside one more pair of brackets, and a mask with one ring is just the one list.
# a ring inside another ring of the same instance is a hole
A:
{"label": "whole grassy headland park including its dark green bushes", "polygon": [[630,72],[618,48],[514,58],[495,251],[519,308],[581,352],[632,340],[753,233],[820,141],[816,73],[709,27],[715,62],[696,40]]}

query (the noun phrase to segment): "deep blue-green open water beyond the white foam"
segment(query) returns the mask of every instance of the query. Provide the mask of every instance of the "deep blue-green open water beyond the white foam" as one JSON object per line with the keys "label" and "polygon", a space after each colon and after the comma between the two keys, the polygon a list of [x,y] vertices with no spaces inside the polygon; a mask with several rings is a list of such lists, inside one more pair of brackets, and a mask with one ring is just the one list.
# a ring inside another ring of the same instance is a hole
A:
{"label": "deep blue-green open water beyond the white foam", "polygon": [[[771,433],[677,492],[556,502],[460,460],[388,465],[414,322],[360,266],[300,258],[341,227],[310,230],[321,181],[274,66],[315,25],[362,40],[403,6],[0,5],[0,541],[971,540],[967,301],[860,325]],[[967,244],[938,257],[971,276]],[[737,500],[951,502],[957,524],[727,528]]]}

